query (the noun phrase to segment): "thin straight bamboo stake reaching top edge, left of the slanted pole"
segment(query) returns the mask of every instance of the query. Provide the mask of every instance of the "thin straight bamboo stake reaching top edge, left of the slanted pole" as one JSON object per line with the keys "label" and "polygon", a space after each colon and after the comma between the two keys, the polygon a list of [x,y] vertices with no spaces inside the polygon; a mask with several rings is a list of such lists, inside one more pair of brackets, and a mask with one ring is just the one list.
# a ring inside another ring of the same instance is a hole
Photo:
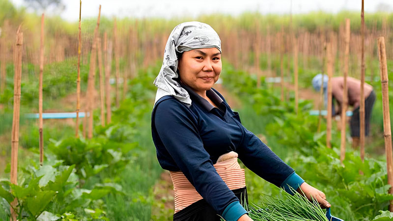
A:
{"label": "thin straight bamboo stake reaching top edge, left of the slanted pole", "polygon": [[[78,76],[77,76],[77,124],[75,126],[75,137],[79,138],[79,111],[81,109],[81,50],[82,50],[82,28],[81,28],[82,0],[79,0],[79,34],[78,34]],[[86,118],[86,112],[84,113]]]}

